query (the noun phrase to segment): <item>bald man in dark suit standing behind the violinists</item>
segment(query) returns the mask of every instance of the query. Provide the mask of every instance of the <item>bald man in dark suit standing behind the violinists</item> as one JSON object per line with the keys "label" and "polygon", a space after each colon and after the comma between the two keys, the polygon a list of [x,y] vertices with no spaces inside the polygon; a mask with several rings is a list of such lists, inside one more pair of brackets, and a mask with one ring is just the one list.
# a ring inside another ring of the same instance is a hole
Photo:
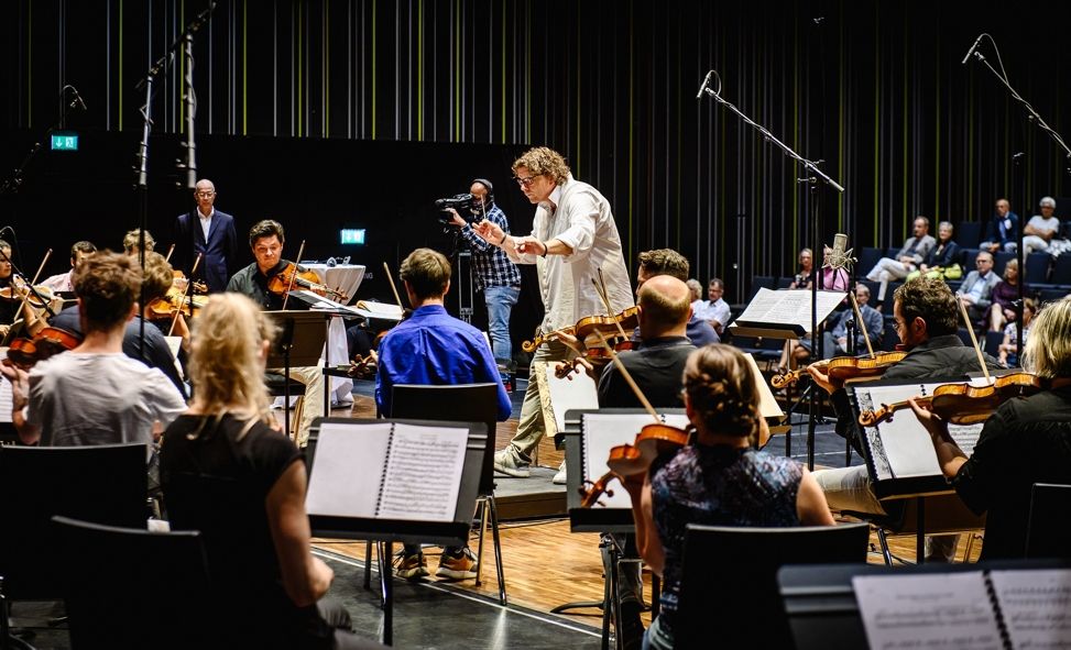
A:
{"label": "bald man in dark suit standing behind the violinists", "polygon": [[[194,189],[197,208],[175,219],[175,252],[172,266],[193,275],[190,279],[204,279],[208,291],[215,294],[227,288],[227,280],[237,266],[238,233],[234,218],[212,207],[216,202],[216,186],[211,180],[201,178]],[[201,253],[197,271],[189,269]]]}

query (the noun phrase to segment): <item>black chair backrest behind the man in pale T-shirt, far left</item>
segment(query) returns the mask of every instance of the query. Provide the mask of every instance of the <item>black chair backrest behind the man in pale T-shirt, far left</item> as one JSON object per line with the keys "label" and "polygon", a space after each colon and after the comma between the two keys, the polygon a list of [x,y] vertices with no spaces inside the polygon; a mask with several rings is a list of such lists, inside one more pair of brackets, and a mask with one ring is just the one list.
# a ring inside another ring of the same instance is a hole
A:
{"label": "black chair backrest behind the man in pale T-shirt, far left", "polygon": [[0,575],[15,599],[48,599],[62,591],[54,515],[112,526],[144,527],[144,444],[0,448]]}

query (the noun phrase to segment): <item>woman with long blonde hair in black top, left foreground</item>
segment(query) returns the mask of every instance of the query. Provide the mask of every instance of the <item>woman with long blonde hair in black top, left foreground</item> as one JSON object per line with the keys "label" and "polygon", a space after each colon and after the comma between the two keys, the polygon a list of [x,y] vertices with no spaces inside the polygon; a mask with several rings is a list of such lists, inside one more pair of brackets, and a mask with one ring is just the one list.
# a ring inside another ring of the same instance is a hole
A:
{"label": "woman with long blonde hair in black top, left foreground", "polygon": [[194,399],[161,453],[171,525],[204,536],[217,605],[234,621],[223,646],[362,647],[342,629],[346,610],[321,599],[335,574],[310,552],[305,463],[280,433],[264,387],[274,335],[239,294],[212,296],[198,317]]}

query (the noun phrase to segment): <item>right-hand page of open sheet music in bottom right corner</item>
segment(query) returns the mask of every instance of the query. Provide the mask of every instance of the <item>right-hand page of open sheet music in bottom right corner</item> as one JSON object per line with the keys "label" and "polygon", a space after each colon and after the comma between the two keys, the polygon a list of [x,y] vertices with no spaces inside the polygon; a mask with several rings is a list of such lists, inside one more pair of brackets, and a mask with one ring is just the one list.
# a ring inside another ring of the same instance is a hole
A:
{"label": "right-hand page of open sheet music in bottom right corner", "polygon": [[1013,647],[1071,647],[1071,570],[992,571],[990,584]]}

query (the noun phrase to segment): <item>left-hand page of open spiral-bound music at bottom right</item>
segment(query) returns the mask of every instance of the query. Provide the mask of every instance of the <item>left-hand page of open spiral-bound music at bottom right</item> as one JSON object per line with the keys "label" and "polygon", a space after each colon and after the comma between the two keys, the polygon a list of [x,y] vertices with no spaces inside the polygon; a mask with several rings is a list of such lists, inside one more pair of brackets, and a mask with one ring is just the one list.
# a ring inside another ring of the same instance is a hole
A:
{"label": "left-hand page of open spiral-bound music at bottom right", "polygon": [[1004,640],[981,571],[852,579],[875,650],[1001,650]]}

